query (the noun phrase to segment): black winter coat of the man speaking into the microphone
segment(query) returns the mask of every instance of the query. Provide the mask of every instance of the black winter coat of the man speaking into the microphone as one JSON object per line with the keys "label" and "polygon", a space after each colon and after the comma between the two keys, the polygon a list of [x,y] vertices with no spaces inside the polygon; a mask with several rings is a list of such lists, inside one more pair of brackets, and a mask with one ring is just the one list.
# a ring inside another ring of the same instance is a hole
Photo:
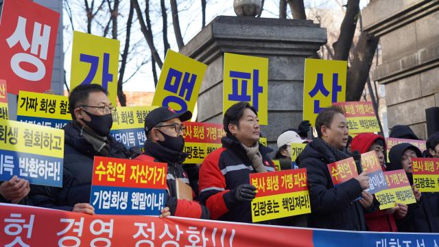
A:
{"label": "black winter coat of the man speaking into the microphone", "polygon": [[333,186],[327,165],[350,156],[347,151],[344,154],[340,154],[342,151],[335,152],[335,148],[331,150],[327,143],[316,138],[296,159],[300,168],[307,169],[311,202],[308,227],[367,231],[364,209],[358,201],[353,202],[363,191],[359,182],[352,178],[337,187]]}

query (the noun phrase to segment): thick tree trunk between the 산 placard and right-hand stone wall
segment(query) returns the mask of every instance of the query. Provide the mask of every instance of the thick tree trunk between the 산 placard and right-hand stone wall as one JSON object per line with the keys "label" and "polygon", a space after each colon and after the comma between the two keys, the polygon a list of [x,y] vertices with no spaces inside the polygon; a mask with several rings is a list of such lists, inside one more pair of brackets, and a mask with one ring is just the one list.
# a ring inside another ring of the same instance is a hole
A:
{"label": "thick tree trunk between the \uc0b0 placard and right-hand stone wall", "polygon": [[358,101],[364,90],[364,85],[369,77],[370,66],[377,49],[379,38],[368,32],[362,32],[359,36],[357,47],[353,54],[351,68],[348,69],[346,78],[346,101]]}

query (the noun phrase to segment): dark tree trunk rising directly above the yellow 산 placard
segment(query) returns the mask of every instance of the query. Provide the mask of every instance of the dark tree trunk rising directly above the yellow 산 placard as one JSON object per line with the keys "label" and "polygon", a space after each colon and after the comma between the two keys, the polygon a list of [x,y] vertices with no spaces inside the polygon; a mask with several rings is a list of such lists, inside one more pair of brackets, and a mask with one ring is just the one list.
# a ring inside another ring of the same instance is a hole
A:
{"label": "dark tree trunk rising directly above the yellow \uc0b0 placard", "polygon": [[[348,60],[359,17],[359,0],[348,0],[346,14],[340,27],[340,36],[333,43],[334,60]],[[364,81],[366,82],[366,81]],[[364,86],[364,84],[363,84]],[[361,89],[362,91],[362,89]]]}

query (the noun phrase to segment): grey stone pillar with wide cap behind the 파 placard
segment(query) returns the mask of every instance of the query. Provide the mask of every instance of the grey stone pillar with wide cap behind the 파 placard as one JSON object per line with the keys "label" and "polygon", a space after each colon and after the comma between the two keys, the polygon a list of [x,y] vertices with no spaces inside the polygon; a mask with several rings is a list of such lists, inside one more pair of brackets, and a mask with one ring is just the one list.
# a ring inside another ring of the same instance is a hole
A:
{"label": "grey stone pillar with wide cap behind the \ud30c placard", "polygon": [[268,126],[262,134],[276,148],[279,134],[302,121],[305,58],[327,43],[312,21],[217,16],[180,50],[208,65],[198,97],[198,121],[222,123],[224,52],[269,58]]}

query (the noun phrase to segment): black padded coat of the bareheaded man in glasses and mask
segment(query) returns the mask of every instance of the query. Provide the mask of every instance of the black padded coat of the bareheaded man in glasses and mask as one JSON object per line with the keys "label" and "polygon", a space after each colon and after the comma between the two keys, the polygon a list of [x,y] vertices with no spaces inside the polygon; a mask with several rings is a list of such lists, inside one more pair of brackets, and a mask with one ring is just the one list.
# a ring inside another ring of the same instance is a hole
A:
{"label": "black padded coat of the bareheaded man in glasses and mask", "polygon": [[[108,136],[109,157],[131,158],[123,143]],[[93,158],[99,155],[80,130],[67,124],[64,127],[64,167],[62,188],[31,185],[29,199],[34,206],[71,211],[77,203],[89,203]]]}

